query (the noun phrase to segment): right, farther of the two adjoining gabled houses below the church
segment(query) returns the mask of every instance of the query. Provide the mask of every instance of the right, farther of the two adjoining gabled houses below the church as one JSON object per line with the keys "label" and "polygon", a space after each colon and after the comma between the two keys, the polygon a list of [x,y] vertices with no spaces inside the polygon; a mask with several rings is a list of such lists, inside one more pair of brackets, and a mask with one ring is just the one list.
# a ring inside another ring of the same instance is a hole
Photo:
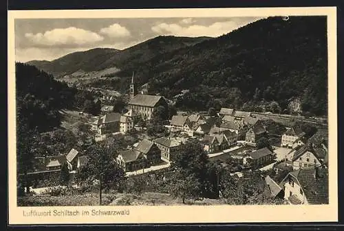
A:
{"label": "right, farther of the two adjoining gabled houses below the church", "polygon": [[153,141],[144,139],[134,149],[143,154],[146,159],[146,166],[150,167],[161,161],[161,151]]}

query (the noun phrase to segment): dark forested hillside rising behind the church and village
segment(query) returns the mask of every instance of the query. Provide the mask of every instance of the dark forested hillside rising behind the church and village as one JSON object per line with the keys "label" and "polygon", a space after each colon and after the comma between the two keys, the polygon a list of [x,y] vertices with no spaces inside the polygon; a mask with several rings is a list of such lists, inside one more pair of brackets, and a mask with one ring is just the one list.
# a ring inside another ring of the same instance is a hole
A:
{"label": "dark forested hillside rising behind the church and village", "polygon": [[[289,113],[290,99],[300,99],[304,113],[325,115],[326,25],[325,16],[270,17],[218,38],[159,36],[103,58],[86,58],[88,69],[69,64],[66,57],[73,54],[65,56],[58,59],[65,63],[56,77],[116,67],[119,72],[96,80],[95,86],[126,92],[134,72],[138,85],[148,83],[150,94],[172,99],[189,89],[176,99],[180,109]],[[42,69],[54,69],[42,64]]]}

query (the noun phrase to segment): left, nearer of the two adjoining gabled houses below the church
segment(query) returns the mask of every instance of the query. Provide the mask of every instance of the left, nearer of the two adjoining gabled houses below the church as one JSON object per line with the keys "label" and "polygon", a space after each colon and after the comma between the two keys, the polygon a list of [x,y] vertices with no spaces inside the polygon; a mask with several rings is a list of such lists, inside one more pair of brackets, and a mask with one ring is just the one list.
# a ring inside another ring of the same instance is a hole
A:
{"label": "left, nearer of the two adjoining gabled houses below the church", "polygon": [[146,167],[146,158],[142,152],[136,149],[127,149],[125,151],[118,151],[116,162],[125,171],[136,171]]}

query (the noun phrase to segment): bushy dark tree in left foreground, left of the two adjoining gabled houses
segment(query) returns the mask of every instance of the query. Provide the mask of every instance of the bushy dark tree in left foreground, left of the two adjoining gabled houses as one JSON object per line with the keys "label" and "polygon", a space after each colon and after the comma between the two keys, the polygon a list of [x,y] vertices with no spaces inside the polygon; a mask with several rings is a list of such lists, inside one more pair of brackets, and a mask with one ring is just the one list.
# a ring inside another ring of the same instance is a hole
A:
{"label": "bushy dark tree in left foreground, left of the two adjoining gabled houses", "polygon": [[78,171],[78,182],[86,181],[92,184],[94,180],[100,180],[100,174],[102,174],[102,184],[105,189],[111,186],[118,188],[122,184],[125,172],[114,161],[115,154],[103,143],[92,145],[87,152],[89,161]]}

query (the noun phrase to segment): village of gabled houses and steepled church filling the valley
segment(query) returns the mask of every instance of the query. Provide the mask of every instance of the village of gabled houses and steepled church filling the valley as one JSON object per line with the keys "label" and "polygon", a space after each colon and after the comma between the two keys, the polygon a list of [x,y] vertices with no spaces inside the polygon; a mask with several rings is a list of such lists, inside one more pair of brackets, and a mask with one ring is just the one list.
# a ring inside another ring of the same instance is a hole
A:
{"label": "village of gabled houses and steepled church filling the valley", "polygon": [[[269,131],[271,125],[266,123],[276,123],[269,117],[271,113],[221,108],[211,114],[176,111],[163,125],[164,134],[152,136],[147,134],[147,123],[156,110],[168,107],[167,100],[160,95],[138,93],[134,77],[129,84],[128,98],[127,108],[122,113],[114,112],[113,105],[103,102],[101,113],[96,117],[78,112],[78,117],[87,117],[86,123],[96,143],[116,135],[136,134],[139,137],[138,142],[121,147],[114,156],[126,177],[168,169],[183,145],[195,141],[202,145],[209,160],[229,167],[230,175],[236,178],[241,178],[244,171],[269,170],[274,171],[274,175],[284,171],[283,179],[277,181],[270,175],[264,176],[270,197],[284,199],[287,204],[328,203],[325,127],[307,134],[301,126],[279,123],[283,133],[273,134]],[[29,174],[45,178],[67,165],[69,174],[74,175],[88,160],[87,149],[72,148],[64,154],[35,158],[35,171]],[[40,193],[39,189],[32,191]]]}

